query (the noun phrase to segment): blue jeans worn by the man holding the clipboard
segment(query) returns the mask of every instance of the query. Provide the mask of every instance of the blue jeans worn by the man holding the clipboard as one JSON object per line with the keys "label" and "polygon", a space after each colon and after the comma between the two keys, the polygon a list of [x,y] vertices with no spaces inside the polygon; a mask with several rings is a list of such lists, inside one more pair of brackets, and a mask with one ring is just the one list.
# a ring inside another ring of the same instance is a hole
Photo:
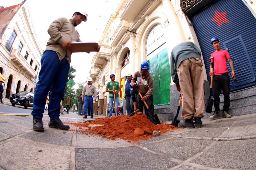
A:
{"label": "blue jeans worn by the man holding the clipboard", "polygon": [[70,64],[66,59],[61,61],[55,51],[47,50],[41,58],[41,70],[39,81],[37,82],[33,111],[33,118],[42,118],[48,92],[51,89],[50,101],[48,105],[48,115],[50,119],[57,119],[60,116],[60,101],[64,93]]}

